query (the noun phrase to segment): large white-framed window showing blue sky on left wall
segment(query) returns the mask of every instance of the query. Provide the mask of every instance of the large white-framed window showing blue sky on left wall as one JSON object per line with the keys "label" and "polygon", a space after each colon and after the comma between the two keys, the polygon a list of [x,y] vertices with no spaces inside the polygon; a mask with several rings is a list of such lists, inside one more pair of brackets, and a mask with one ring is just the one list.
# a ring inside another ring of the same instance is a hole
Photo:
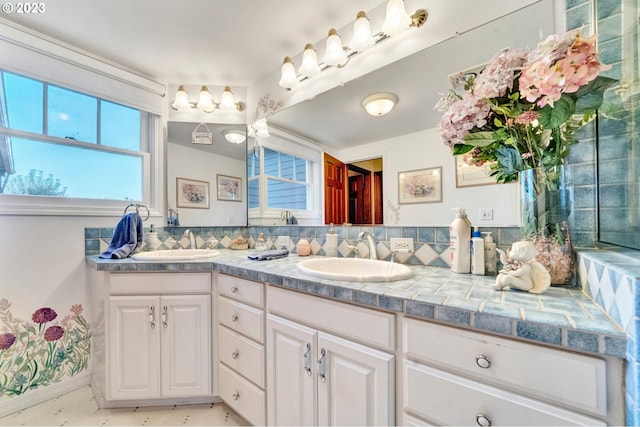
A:
{"label": "large white-framed window showing blue sky on left wall", "polygon": [[0,193],[145,200],[150,113],[7,71],[0,75]]}

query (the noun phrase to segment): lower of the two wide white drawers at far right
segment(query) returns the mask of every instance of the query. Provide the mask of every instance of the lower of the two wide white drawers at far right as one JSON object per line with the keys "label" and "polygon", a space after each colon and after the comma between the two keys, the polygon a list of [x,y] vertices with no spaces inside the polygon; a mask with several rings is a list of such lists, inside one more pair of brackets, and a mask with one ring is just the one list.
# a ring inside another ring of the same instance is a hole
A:
{"label": "lower of the two wide white drawers at far right", "polygon": [[[437,425],[606,425],[601,420],[406,360],[403,406]],[[490,424],[482,424],[483,421]]]}

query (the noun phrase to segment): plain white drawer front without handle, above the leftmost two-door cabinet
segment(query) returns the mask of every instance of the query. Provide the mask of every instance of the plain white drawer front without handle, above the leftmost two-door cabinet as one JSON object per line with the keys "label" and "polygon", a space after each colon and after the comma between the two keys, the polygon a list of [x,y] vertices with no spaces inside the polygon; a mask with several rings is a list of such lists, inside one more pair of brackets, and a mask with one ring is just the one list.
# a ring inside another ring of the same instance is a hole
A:
{"label": "plain white drawer front without handle, above the leftmost two-door cabinet", "polygon": [[108,280],[112,295],[211,292],[211,273],[112,273]]}

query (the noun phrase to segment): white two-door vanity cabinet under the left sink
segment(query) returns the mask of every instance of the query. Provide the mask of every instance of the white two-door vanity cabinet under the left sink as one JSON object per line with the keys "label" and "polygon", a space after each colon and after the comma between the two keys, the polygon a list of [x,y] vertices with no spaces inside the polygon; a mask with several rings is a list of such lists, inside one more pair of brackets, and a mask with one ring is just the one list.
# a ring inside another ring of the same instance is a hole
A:
{"label": "white two-door vanity cabinet under the left sink", "polygon": [[105,406],[210,401],[211,274],[103,274]]}

